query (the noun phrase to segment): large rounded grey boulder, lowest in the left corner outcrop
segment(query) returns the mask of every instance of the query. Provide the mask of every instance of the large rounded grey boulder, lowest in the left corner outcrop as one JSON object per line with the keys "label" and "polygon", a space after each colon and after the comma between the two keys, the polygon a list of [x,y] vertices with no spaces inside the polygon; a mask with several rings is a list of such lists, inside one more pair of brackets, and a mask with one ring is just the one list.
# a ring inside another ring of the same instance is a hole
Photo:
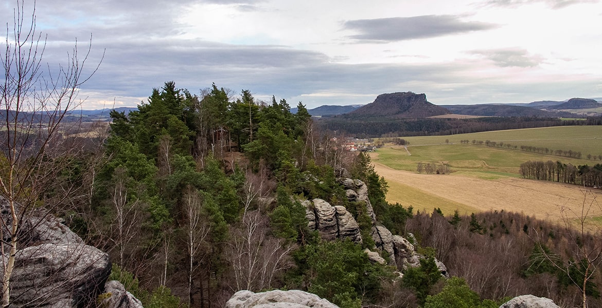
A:
{"label": "large rounded grey boulder, lowest in the left corner outcrop", "polygon": [[83,307],[111,273],[106,253],[84,244],[46,243],[17,251],[11,276],[15,307]]}

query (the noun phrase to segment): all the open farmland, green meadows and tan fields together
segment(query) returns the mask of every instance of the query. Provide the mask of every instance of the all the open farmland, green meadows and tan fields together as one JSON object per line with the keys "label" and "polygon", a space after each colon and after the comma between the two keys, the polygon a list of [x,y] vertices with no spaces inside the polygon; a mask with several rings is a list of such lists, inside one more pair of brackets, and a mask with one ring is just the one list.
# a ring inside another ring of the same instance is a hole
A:
{"label": "all the open farmland, green meadows and tan fields together", "polygon": [[[536,144],[551,149],[602,154],[602,127],[598,126],[533,128],[404,139],[410,142],[408,151],[403,146],[387,145],[372,154],[376,171],[389,183],[388,201],[412,205],[420,211],[430,212],[439,207],[444,214],[452,214],[454,210],[467,214],[506,210],[559,221],[562,218],[560,207],[577,211],[583,204],[585,190],[579,186],[524,180],[518,175],[520,164],[527,160],[559,160],[573,165],[600,163],[599,160],[526,152],[520,148],[473,145],[471,142],[461,143],[460,140],[496,140],[518,146]],[[448,142],[445,142],[446,139]],[[447,163],[452,174],[418,174],[416,166],[420,162]],[[594,189],[585,198],[591,201],[594,196],[597,196],[598,201],[602,200],[602,191]],[[600,225],[600,207],[596,206],[591,214],[591,223]],[[576,214],[569,213],[569,216],[573,219]]]}

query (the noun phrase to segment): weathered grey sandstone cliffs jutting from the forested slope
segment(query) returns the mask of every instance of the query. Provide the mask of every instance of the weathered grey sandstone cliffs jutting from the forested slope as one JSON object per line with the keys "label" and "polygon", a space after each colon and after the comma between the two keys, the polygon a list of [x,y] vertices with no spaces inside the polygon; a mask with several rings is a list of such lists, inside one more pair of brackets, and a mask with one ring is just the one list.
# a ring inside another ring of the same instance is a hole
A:
{"label": "weathered grey sandstone cliffs jutting from the forested slope", "polygon": [[[368,199],[366,184],[350,178],[339,178],[338,183],[346,189],[349,201],[363,205],[372,220],[371,237],[376,243],[376,247],[373,247],[372,251],[368,250],[370,259],[373,262],[384,263],[385,259],[378,252],[386,252],[390,264],[396,265],[399,270],[420,266],[420,259],[424,256],[417,253],[406,238],[391,234],[389,229],[377,221],[370,199]],[[320,236],[325,240],[350,238],[355,243],[362,243],[359,225],[346,208],[332,206],[322,199],[304,200],[301,203],[306,208],[309,229],[320,232]],[[438,260],[435,262],[441,270],[441,274],[448,277],[445,265]]]}

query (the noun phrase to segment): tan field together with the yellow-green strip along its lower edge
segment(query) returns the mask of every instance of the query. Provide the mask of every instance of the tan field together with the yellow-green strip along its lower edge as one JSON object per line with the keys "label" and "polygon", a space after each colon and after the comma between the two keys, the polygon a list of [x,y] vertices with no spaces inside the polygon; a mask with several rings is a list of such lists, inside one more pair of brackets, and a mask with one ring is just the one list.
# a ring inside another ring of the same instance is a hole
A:
{"label": "tan field together with the yellow-green strip along its lower edge", "polygon": [[[598,201],[589,213],[592,222],[602,222],[602,190],[547,181],[500,177],[496,180],[464,175],[426,175],[391,169],[373,156],[375,171],[389,183],[387,201],[399,202],[414,211],[431,213],[441,208],[445,215],[458,210],[461,214],[504,210],[523,213],[538,219],[562,222],[561,208],[573,220],[586,202]],[[584,194],[587,193],[587,196]]]}

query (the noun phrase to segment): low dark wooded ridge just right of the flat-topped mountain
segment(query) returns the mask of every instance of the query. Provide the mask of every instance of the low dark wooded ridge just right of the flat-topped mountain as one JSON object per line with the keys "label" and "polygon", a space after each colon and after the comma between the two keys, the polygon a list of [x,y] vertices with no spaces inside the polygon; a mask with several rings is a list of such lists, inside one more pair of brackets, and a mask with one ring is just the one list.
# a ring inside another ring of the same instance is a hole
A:
{"label": "low dark wooded ridge just right of the flat-topped mountain", "polygon": [[509,104],[476,104],[476,105],[448,105],[445,106],[451,113],[458,115],[477,116],[537,116],[539,118],[575,118],[578,115],[570,112],[554,112],[536,109],[527,106]]}

